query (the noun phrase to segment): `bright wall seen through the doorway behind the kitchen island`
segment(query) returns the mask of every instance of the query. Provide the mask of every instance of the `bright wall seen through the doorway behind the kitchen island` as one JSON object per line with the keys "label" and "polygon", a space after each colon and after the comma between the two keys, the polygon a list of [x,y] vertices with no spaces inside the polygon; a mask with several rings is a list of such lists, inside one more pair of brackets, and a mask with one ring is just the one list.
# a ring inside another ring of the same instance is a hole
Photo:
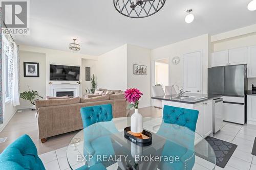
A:
{"label": "bright wall seen through the doorway behind the kitchen island", "polygon": [[169,64],[156,62],[155,67],[155,82],[163,87],[169,85]]}

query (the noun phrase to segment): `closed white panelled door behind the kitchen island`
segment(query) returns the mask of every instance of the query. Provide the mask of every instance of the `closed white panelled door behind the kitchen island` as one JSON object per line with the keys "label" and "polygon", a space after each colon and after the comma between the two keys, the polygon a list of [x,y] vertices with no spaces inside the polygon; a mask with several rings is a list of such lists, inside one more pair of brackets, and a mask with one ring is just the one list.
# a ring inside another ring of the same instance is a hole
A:
{"label": "closed white panelled door behind the kitchen island", "polygon": [[202,93],[201,52],[184,55],[184,90]]}

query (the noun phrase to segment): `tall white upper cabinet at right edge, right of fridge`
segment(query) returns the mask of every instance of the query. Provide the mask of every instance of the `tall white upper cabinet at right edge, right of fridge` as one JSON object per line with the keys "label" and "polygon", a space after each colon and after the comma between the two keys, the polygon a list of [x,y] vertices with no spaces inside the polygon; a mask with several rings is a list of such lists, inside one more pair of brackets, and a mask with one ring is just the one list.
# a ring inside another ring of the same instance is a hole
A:
{"label": "tall white upper cabinet at right edge, right of fridge", "polygon": [[256,45],[248,48],[248,78],[256,78]]}

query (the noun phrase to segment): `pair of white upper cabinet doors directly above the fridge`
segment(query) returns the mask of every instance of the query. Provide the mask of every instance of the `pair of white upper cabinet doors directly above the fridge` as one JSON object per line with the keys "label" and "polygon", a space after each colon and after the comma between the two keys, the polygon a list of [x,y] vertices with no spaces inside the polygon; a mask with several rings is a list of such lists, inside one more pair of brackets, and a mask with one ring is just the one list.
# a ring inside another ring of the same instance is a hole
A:
{"label": "pair of white upper cabinet doors directly above the fridge", "polygon": [[248,47],[214,52],[211,54],[211,66],[248,64]]}

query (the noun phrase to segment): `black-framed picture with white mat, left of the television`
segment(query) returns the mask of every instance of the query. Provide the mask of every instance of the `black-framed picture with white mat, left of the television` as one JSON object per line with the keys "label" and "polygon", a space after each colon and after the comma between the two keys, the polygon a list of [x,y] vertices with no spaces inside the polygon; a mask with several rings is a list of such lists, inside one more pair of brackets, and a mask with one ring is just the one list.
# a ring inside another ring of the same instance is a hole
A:
{"label": "black-framed picture with white mat, left of the television", "polygon": [[23,62],[24,77],[39,77],[39,63]]}

